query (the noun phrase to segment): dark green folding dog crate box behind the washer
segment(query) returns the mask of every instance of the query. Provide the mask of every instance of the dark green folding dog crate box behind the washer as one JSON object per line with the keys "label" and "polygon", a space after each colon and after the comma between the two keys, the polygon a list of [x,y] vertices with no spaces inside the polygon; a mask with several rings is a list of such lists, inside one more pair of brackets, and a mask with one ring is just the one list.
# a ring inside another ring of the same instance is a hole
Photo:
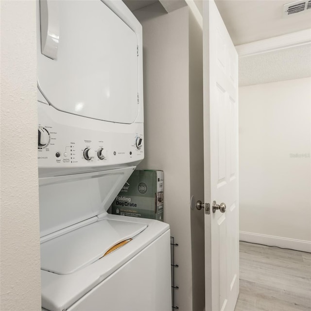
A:
{"label": "dark green folding dog crate box behind the washer", "polygon": [[115,215],[163,221],[163,171],[135,170],[111,205]]}

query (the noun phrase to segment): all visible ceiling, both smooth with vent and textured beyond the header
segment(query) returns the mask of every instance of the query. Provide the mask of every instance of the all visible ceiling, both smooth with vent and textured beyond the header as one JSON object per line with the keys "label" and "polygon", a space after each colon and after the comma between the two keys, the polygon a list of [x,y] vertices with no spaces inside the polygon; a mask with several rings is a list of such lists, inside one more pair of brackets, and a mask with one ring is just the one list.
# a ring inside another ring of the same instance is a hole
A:
{"label": "all visible ceiling, both smooth with vent and textured beyond the header", "polygon": [[[158,2],[158,0],[123,1],[131,11]],[[194,1],[202,14],[202,0]],[[311,28],[311,9],[310,12],[283,17],[283,5],[293,0],[215,0],[215,2],[234,45]],[[310,44],[242,57],[239,60],[240,86],[310,76]]]}

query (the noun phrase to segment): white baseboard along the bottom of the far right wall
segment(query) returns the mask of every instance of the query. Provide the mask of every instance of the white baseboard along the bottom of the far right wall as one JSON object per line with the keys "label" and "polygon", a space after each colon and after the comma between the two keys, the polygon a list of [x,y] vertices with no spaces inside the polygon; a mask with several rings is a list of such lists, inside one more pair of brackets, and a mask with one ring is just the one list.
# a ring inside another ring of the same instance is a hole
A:
{"label": "white baseboard along the bottom of the far right wall", "polygon": [[240,241],[290,248],[297,251],[311,253],[311,241],[281,238],[272,235],[244,231],[240,231]]}

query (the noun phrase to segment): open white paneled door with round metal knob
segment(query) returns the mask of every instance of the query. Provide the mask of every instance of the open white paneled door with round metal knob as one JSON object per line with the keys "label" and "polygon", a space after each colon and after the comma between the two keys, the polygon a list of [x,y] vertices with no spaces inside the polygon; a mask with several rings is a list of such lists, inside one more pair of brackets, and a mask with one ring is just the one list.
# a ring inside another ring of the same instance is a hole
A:
{"label": "open white paneled door with round metal knob", "polygon": [[[238,55],[214,1],[203,1],[206,311],[239,295]],[[225,203],[213,212],[213,201]]]}

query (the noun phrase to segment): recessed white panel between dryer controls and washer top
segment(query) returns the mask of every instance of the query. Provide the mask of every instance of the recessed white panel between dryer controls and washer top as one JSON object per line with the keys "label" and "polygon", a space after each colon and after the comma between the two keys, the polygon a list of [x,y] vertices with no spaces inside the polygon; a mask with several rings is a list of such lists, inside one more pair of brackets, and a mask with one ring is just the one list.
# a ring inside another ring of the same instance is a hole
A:
{"label": "recessed white panel between dryer controls and washer top", "polygon": [[103,214],[134,169],[39,178],[40,237]]}

